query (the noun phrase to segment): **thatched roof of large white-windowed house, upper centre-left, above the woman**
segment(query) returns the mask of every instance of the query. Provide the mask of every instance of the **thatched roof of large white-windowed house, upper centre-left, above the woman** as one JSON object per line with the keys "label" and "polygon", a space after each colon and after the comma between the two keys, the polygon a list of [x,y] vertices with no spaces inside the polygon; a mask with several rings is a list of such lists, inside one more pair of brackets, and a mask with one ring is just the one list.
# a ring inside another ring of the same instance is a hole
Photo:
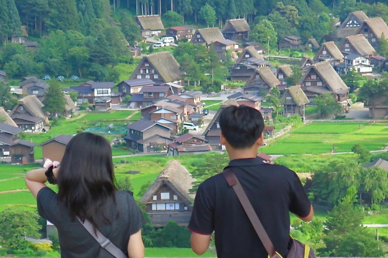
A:
{"label": "thatched roof of large white-windowed house, upper centre-left, above the woman", "polygon": [[[164,83],[179,81],[184,76],[180,65],[170,52],[159,52],[143,57],[155,68]],[[140,62],[139,65],[141,65]]]}

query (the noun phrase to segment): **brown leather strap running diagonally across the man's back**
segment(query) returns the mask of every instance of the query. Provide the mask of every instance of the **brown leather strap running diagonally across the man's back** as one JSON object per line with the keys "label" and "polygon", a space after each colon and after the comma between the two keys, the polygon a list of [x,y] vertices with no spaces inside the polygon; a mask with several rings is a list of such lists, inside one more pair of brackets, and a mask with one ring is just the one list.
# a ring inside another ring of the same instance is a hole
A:
{"label": "brown leather strap running diagonally across the man's back", "polygon": [[246,215],[248,215],[248,218],[251,221],[251,224],[253,225],[253,228],[255,229],[256,234],[259,236],[260,240],[262,241],[265,250],[267,250],[268,255],[270,257],[279,257],[275,251],[274,245],[272,244],[270,238],[268,237],[267,232],[265,232],[265,229],[262,223],[260,222],[259,217],[257,216],[255,210],[253,209],[253,206],[249,201],[248,196],[246,196],[246,193],[244,192],[244,189],[242,189],[241,184],[237,179],[236,175],[234,174],[233,170],[230,168],[227,168],[223,170],[222,174],[225,177],[226,181],[228,182],[229,186],[231,186],[234,192],[236,193],[237,198],[239,199],[242,205],[242,208],[244,208]]}

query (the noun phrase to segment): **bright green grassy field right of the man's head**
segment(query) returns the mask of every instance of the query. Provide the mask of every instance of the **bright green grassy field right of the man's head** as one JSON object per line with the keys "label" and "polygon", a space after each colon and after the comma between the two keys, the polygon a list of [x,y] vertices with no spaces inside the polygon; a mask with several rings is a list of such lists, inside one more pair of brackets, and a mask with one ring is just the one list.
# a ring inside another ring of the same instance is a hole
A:
{"label": "bright green grassy field right of the man's head", "polygon": [[303,154],[351,151],[355,143],[368,150],[381,150],[388,144],[386,124],[365,124],[359,129],[355,122],[312,123],[291,131],[274,143],[263,147],[267,154]]}

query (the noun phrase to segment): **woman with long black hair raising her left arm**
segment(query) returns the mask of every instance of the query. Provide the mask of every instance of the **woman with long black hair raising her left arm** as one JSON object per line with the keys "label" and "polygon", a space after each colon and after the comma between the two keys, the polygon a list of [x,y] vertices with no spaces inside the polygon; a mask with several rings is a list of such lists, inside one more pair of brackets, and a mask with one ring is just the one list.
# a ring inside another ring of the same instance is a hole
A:
{"label": "woman with long black hair raising her left arm", "polygon": [[[144,257],[144,216],[132,193],[116,191],[107,140],[78,134],[69,141],[59,168],[54,165],[27,172],[26,186],[40,216],[58,230],[61,257],[117,257],[100,246],[81,222],[90,222],[93,234],[99,231],[125,256]],[[45,185],[47,181],[58,184],[57,194]]]}

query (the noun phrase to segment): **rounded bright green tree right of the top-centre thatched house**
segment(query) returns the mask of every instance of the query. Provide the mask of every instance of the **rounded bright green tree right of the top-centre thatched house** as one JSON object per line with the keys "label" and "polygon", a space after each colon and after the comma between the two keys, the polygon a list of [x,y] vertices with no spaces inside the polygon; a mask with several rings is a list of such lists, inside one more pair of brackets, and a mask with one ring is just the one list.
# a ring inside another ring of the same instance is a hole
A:
{"label": "rounded bright green tree right of the top-centre thatched house", "polygon": [[260,21],[251,30],[249,38],[253,41],[257,41],[263,46],[267,46],[268,40],[271,48],[277,47],[277,36],[272,23],[266,19]]}

